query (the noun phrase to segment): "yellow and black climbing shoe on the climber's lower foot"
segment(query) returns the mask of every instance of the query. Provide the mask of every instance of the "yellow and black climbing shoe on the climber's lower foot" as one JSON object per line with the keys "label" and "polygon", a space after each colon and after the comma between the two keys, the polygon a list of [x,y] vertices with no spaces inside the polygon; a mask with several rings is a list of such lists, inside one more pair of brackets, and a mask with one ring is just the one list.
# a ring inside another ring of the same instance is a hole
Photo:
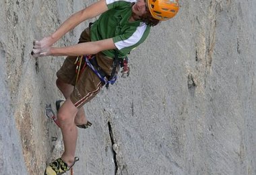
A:
{"label": "yellow and black climbing shoe on the climber's lower foot", "polygon": [[55,160],[54,162],[51,162],[49,166],[46,167],[44,171],[44,175],[61,175],[64,174],[65,172],[69,171],[75,162],[79,160],[78,157],[75,157],[75,160],[72,164],[72,166],[68,167],[65,162],[61,158]]}

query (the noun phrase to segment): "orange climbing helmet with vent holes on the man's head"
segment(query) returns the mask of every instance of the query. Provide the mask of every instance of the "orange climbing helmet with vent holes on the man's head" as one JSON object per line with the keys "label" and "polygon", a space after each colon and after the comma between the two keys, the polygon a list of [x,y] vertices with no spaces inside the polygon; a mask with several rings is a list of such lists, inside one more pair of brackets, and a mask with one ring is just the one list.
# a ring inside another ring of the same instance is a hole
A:
{"label": "orange climbing helmet with vent holes on the man's head", "polygon": [[179,0],[147,0],[148,9],[156,20],[168,20],[179,11]]}

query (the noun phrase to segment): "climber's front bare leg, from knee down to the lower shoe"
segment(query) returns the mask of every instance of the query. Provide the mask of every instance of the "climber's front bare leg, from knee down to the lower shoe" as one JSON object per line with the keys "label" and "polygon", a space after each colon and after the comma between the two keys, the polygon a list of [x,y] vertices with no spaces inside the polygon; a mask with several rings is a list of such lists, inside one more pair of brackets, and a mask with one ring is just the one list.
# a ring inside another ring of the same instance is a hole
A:
{"label": "climber's front bare leg, from knee down to the lower shoe", "polygon": [[77,127],[75,126],[74,120],[77,112],[78,109],[73,105],[71,100],[67,98],[57,114],[65,148],[61,159],[67,163],[67,166],[71,166],[75,158]]}

